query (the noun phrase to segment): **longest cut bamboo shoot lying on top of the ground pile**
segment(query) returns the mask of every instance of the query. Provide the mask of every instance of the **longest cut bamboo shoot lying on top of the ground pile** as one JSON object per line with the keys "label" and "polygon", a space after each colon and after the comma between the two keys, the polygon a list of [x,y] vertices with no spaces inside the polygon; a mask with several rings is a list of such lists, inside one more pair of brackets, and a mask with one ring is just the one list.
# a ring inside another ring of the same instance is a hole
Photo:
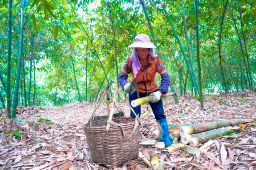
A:
{"label": "longest cut bamboo shoot lying on top of the ground pile", "polygon": [[222,127],[228,127],[228,126],[234,126],[239,125],[243,123],[252,122],[251,119],[230,119],[225,121],[216,121],[216,122],[209,122],[209,123],[201,123],[201,124],[194,124],[194,125],[188,125],[180,127],[180,136],[182,134],[193,134],[193,133],[200,133],[205,132],[208,130],[213,130],[216,128],[222,128]]}

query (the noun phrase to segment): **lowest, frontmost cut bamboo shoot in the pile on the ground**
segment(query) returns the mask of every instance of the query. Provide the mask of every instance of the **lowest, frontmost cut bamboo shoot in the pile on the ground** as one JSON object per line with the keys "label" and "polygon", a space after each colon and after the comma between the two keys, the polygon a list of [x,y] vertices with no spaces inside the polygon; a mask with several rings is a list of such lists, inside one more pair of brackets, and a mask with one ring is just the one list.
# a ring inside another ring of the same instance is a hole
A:
{"label": "lowest, frontmost cut bamboo shoot in the pile on the ground", "polygon": [[205,134],[203,136],[194,137],[194,138],[190,139],[190,145],[194,147],[194,146],[197,146],[200,143],[208,142],[211,139],[213,140],[213,139],[219,137],[220,134],[221,135],[226,135],[229,132],[232,132],[232,131],[229,130],[229,129],[223,129],[223,130],[217,130],[215,132]]}

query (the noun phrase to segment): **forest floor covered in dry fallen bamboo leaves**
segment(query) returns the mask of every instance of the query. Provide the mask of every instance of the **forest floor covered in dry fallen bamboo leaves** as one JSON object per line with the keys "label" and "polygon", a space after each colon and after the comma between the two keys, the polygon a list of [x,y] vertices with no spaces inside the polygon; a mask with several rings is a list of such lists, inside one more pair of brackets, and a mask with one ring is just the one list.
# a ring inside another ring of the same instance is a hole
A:
{"label": "forest floor covered in dry fallen bamboo leaves", "polygon": [[[164,110],[168,123],[205,123],[227,119],[256,119],[256,93],[249,91],[228,95],[206,96],[204,109],[200,102],[189,94],[179,97],[180,103],[174,104],[172,97],[164,99]],[[62,107],[19,107],[16,115],[18,132],[22,138],[3,135],[6,109],[0,117],[0,167],[10,170],[103,170],[107,169],[95,164],[90,155],[83,126],[88,122],[95,103],[72,103]],[[130,109],[124,103],[118,103],[125,117],[130,116]],[[150,107],[149,107],[150,109]],[[100,105],[96,115],[107,115],[106,105]],[[142,106],[142,125],[140,139],[153,139],[152,131],[158,126],[152,110]],[[40,122],[38,122],[40,121]],[[38,122],[39,131],[35,131],[34,122]],[[46,122],[46,123],[43,123]],[[114,125],[112,125],[114,126]],[[223,136],[214,140],[208,149],[214,161],[206,155],[199,157],[181,154],[185,149],[168,153],[166,148],[140,146],[140,150],[149,158],[157,155],[166,161],[166,169],[217,169],[218,164],[225,169],[256,169],[256,125],[238,129],[239,134]],[[196,146],[199,148],[202,146]],[[242,146],[242,147],[241,147]],[[166,157],[170,155],[170,159]],[[79,160],[80,155],[80,160]],[[225,158],[226,155],[226,158]],[[222,162],[225,158],[226,162]],[[172,160],[172,161],[171,161]],[[192,164],[194,166],[192,166]],[[196,168],[196,166],[198,168]],[[127,162],[115,170],[152,169],[147,168],[140,158]]]}

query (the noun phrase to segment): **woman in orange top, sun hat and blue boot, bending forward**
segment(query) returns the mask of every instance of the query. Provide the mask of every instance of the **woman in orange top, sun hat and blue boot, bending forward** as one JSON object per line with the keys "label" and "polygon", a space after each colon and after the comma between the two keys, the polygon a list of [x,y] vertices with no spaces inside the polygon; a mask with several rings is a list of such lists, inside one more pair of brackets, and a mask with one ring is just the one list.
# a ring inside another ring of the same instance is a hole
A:
{"label": "woman in orange top, sun hat and blue boot, bending forward", "polygon": [[[130,83],[136,77],[138,84],[138,92],[129,93],[130,104],[133,100],[139,97],[145,97],[147,94],[153,96],[153,101],[149,103],[155,115],[158,127],[160,130],[160,139],[166,146],[172,145],[169,138],[168,124],[164,115],[164,108],[160,96],[168,92],[170,76],[167,73],[160,57],[153,53],[153,48],[156,48],[150,42],[150,38],[146,34],[139,34],[135,37],[134,43],[128,46],[134,48],[130,57],[126,59],[122,72],[118,76],[118,82],[122,89],[130,92]],[[132,73],[130,83],[128,83],[128,74]],[[158,87],[155,81],[155,75],[161,75],[161,85]],[[133,107],[135,113],[140,117],[140,106]],[[131,111],[131,117],[135,117]]]}

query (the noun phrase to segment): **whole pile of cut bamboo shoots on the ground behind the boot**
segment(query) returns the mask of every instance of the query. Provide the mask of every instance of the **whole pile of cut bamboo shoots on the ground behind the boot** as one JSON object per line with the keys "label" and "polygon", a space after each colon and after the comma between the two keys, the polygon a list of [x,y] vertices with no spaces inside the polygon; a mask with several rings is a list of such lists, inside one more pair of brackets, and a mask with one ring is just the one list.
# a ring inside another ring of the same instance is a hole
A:
{"label": "whole pile of cut bamboo shoots on the ground behind the boot", "polygon": [[[201,124],[169,124],[169,137],[174,139],[174,143],[177,143],[177,140],[180,139],[183,144],[197,146],[198,144],[213,140],[220,135],[230,134],[232,131],[228,129],[229,127],[251,123],[252,121],[251,119],[230,119]],[[159,131],[155,130],[153,135],[159,137]]]}

